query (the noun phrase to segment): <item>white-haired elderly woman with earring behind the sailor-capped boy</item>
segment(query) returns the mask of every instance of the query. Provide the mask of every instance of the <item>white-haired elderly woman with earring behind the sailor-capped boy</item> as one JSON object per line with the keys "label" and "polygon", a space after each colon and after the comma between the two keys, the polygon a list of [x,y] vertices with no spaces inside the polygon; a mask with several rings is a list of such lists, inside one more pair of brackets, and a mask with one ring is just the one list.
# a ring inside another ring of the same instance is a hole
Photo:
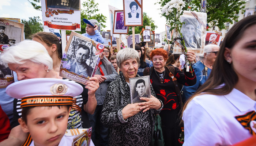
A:
{"label": "white-haired elderly woman with earring behind the sailor-capped boy", "polygon": [[[19,81],[30,78],[58,78],[57,73],[53,70],[53,60],[48,54],[48,51],[41,43],[36,41],[22,41],[15,46],[9,47],[5,50],[3,55],[1,55],[1,60],[4,63],[7,63],[12,71],[16,72]],[[99,87],[98,79],[96,77],[92,77],[90,78],[90,81],[86,83],[86,85],[87,86],[85,88],[88,89],[88,98],[95,98],[95,91]],[[77,100],[77,98],[78,96],[74,97],[73,99]],[[83,99],[81,97],[81,101],[79,101],[79,103],[82,101]],[[0,146],[5,144],[22,145],[22,143],[25,141],[27,134],[21,131],[21,127],[17,122],[18,118],[21,116],[20,104],[21,100],[14,100],[14,108],[16,108],[14,111],[17,111],[17,113],[14,114],[15,117],[11,123],[12,130],[8,139],[1,142]],[[74,110],[71,112],[73,113]],[[68,121],[75,120],[75,118],[77,118],[78,121],[81,121],[80,112],[76,113],[76,117],[70,115]],[[75,125],[77,126],[75,128],[82,128],[82,122],[77,123],[78,125]]]}

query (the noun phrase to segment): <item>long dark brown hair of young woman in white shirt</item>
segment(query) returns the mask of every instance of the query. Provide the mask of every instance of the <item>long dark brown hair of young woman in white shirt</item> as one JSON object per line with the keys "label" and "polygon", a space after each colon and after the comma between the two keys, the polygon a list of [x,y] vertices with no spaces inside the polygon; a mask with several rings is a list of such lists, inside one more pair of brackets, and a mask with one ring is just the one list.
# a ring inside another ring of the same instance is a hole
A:
{"label": "long dark brown hair of young woman in white shirt", "polygon": [[[233,46],[236,45],[236,42],[241,39],[245,30],[254,24],[256,24],[256,16],[252,15],[240,20],[230,28],[220,46],[219,54],[214,62],[210,77],[184,104],[183,111],[195,96],[201,94],[227,95],[233,90],[238,82],[238,76],[232,65],[224,58],[225,48],[232,49]],[[223,83],[225,83],[225,85],[219,87]]]}

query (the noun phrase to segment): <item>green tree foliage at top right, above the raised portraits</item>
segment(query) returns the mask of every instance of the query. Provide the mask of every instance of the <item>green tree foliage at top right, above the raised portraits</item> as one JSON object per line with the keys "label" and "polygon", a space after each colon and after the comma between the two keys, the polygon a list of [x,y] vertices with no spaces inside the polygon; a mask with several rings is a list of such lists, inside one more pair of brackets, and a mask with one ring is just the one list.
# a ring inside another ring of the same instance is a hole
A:
{"label": "green tree foliage at top right, above the raised portraits", "polygon": [[[159,0],[161,6],[164,6],[170,0]],[[206,13],[209,27],[217,26],[219,30],[225,29],[225,23],[233,24],[237,21],[239,11],[244,12],[244,0],[207,0]],[[201,0],[191,0],[188,3],[191,11],[200,12]]]}

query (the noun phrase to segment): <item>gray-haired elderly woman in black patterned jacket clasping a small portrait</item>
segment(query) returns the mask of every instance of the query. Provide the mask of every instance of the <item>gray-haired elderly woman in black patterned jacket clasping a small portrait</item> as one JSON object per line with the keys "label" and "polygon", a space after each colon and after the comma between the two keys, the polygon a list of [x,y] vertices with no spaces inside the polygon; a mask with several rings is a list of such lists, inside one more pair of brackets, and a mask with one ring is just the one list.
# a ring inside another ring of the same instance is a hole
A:
{"label": "gray-haired elderly woman in black patterned jacket clasping a small portrait", "polygon": [[129,78],[138,77],[139,54],[127,48],[118,52],[117,65],[121,69],[115,81],[108,85],[103,103],[101,122],[110,129],[109,146],[148,146],[154,127],[154,114],[163,104],[155,98],[150,85],[151,98],[141,97],[143,103],[131,104]]}

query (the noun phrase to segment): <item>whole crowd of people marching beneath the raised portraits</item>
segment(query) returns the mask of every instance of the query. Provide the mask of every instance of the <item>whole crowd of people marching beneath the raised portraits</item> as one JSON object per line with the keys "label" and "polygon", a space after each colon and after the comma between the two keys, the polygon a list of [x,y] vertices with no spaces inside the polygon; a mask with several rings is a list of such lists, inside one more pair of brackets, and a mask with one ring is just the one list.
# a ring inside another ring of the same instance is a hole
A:
{"label": "whole crowd of people marching beneath the raised portraits", "polygon": [[[97,20],[84,22],[83,35],[103,43]],[[185,37],[185,45],[196,46],[188,43],[193,36]],[[199,61],[188,51],[185,58],[190,66],[180,61],[182,55],[147,48],[145,42],[118,52],[104,47],[94,77],[83,85],[60,76],[59,38],[37,32],[32,40],[6,49],[0,58],[15,78],[6,91],[0,90],[5,98],[0,100],[0,146],[71,145],[65,131],[89,127],[90,145],[150,146],[155,115],[161,117],[165,146],[235,145],[256,135],[255,38],[252,15],[234,24],[221,46],[206,45]],[[74,54],[81,59],[70,72],[93,72],[83,64],[90,48],[79,45]],[[143,81],[138,84],[151,96],[145,97],[143,90],[138,98],[144,102],[132,103],[129,78],[140,76],[149,76],[149,87]],[[65,100],[46,104],[47,96]]]}

